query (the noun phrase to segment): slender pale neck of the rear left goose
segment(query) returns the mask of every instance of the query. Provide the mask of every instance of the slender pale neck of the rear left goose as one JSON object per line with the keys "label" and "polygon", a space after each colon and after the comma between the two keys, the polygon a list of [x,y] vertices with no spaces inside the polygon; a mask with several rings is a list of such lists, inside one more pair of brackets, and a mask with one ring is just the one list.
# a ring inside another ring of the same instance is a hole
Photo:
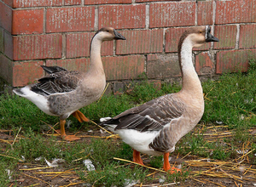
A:
{"label": "slender pale neck of the rear left goose", "polygon": [[90,42],[90,72],[103,71],[101,47],[102,40],[100,40],[96,35]]}

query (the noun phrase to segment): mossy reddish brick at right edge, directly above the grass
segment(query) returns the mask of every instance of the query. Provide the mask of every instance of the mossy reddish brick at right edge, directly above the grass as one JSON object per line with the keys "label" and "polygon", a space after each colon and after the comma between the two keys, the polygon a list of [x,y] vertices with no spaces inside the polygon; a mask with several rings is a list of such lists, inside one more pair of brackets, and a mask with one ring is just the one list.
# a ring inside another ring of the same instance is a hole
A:
{"label": "mossy reddish brick at right edge, directly above the grass", "polygon": [[256,49],[220,51],[217,53],[216,73],[247,71],[250,59],[256,59]]}

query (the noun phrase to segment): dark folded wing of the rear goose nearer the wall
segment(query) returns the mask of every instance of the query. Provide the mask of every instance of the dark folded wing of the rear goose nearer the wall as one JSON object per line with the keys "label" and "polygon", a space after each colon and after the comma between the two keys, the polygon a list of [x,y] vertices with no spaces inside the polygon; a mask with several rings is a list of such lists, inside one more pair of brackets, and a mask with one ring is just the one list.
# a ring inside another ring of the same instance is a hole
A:
{"label": "dark folded wing of the rear goose nearer the wall", "polygon": [[32,91],[42,95],[71,92],[77,88],[81,79],[81,72],[67,71],[58,66],[46,67],[44,71],[49,75],[40,78],[38,83],[32,86]]}

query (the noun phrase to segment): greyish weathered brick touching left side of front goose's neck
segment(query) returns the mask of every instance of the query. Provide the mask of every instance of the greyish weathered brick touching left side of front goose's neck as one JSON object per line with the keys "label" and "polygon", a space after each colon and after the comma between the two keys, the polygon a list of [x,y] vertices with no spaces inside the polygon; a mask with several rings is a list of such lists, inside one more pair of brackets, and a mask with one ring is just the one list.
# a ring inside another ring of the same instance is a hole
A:
{"label": "greyish weathered brick touching left side of front goose's neck", "polygon": [[148,54],[148,78],[181,76],[177,54]]}

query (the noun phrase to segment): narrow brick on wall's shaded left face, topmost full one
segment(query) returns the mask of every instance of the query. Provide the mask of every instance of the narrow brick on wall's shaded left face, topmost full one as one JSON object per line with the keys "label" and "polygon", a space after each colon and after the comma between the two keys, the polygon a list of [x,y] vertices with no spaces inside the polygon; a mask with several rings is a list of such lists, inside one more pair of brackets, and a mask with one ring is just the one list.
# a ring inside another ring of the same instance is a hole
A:
{"label": "narrow brick on wall's shaded left face, topmost full one", "polygon": [[3,2],[0,2],[0,26],[11,32],[12,19],[12,9]]}

